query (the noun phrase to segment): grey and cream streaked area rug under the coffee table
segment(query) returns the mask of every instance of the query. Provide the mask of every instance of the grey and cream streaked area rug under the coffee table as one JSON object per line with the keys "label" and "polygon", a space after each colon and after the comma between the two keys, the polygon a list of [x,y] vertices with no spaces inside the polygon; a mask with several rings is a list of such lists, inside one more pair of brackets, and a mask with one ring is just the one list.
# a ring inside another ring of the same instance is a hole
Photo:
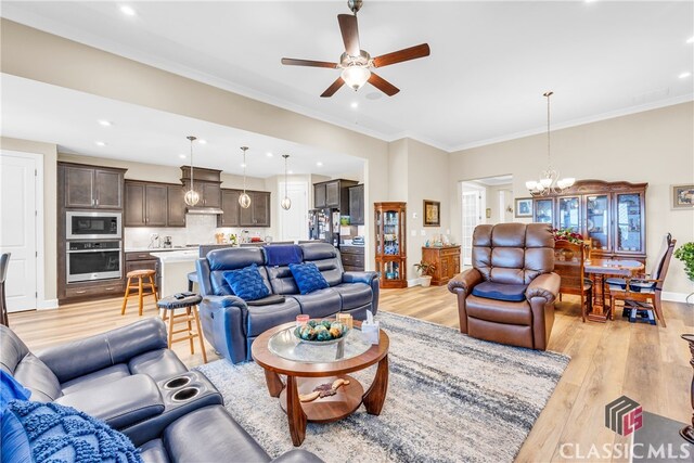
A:
{"label": "grey and cream streaked area rug under the coffee table", "polygon": [[[301,448],[326,462],[511,462],[569,362],[408,317],[377,319],[390,337],[386,402],[380,416],[361,407],[336,423],[309,423]],[[262,368],[218,360],[197,370],[271,456],[294,448]],[[364,389],[374,374],[352,373]]]}

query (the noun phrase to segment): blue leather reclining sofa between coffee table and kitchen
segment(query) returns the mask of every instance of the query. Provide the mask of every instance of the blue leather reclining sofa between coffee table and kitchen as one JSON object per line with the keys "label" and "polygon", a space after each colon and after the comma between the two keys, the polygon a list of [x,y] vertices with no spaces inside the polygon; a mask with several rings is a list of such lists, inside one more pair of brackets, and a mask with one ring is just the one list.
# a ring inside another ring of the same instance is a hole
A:
{"label": "blue leather reclining sofa between coffee table and kitchen", "polygon": [[[316,263],[330,287],[299,294],[288,262],[274,259],[272,246],[217,249],[197,261],[197,279],[204,297],[200,313],[205,338],[233,363],[250,360],[250,345],[262,332],[294,321],[300,313],[323,318],[342,311],[351,313],[357,320],[364,320],[367,310],[376,313],[376,272],[345,272],[339,252],[327,243],[294,246],[300,261]],[[233,295],[223,273],[253,263],[258,266],[271,296],[247,304]]]}

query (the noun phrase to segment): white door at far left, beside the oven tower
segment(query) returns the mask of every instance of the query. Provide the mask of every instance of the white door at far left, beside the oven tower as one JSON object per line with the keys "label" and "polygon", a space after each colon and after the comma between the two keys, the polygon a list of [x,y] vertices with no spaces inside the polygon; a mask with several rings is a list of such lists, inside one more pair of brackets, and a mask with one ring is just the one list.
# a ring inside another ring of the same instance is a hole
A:
{"label": "white door at far left, beside the oven tower", "polygon": [[37,303],[36,159],[0,154],[0,253],[12,253],[5,281],[8,310]]}

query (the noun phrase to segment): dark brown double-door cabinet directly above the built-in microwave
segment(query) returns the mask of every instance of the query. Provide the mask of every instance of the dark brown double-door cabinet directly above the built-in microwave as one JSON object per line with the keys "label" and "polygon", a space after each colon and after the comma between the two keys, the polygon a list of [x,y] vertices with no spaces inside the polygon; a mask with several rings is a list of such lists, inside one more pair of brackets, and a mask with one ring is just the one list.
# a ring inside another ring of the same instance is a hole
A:
{"label": "dark brown double-door cabinet directly above the built-in microwave", "polygon": [[123,208],[123,177],[126,169],[60,163],[65,207],[86,209]]}

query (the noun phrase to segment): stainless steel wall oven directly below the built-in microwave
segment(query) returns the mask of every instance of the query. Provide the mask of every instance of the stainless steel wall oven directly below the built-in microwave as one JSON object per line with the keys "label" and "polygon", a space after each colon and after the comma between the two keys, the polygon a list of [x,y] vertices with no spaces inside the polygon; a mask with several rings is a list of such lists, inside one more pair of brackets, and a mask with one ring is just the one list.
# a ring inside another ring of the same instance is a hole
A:
{"label": "stainless steel wall oven directly below the built-in microwave", "polygon": [[120,241],[67,242],[67,283],[119,279],[121,257]]}

